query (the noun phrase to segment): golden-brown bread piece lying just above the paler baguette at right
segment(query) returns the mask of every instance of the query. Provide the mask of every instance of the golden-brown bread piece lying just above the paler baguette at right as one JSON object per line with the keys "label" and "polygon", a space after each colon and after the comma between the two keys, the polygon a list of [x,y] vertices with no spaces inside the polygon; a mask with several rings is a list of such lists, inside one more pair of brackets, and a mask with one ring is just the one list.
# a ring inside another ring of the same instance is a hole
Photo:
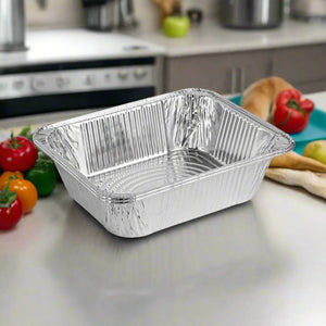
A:
{"label": "golden-brown bread piece lying just above the paler baguette at right", "polygon": [[326,165],[290,151],[272,160],[269,167],[285,167],[293,170],[310,170],[314,172],[326,172]]}

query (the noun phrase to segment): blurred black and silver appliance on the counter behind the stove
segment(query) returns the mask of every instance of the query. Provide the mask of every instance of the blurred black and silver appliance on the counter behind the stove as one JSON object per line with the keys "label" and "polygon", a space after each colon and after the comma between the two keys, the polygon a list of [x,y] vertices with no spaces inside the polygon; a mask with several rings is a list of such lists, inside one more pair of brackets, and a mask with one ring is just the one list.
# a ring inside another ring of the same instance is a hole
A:
{"label": "blurred black and silver appliance on the counter behind the stove", "polygon": [[83,0],[86,26],[95,30],[112,30],[137,25],[133,0]]}

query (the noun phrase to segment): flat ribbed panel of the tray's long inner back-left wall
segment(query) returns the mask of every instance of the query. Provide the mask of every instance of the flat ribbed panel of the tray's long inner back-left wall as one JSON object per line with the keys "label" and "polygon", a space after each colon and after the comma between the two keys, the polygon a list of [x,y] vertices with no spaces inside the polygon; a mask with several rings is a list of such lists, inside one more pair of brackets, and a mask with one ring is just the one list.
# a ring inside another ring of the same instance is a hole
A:
{"label": "flat ribbed panel of the tray's long inner back-left wall", "polygon": [[80,125],[88,174],[166,152],[161,102]]}

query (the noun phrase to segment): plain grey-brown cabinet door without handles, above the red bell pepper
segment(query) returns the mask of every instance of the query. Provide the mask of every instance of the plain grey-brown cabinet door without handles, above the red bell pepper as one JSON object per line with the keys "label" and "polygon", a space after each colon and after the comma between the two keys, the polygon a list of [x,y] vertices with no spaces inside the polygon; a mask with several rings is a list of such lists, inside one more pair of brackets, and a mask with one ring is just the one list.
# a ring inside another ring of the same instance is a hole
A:
{"label": "plain grey-brown cabinet door without handles, above the red bell pepper", "polygon": [[277,49],[273,74],[284,77],[302,92],[326,89],[326,45]]}

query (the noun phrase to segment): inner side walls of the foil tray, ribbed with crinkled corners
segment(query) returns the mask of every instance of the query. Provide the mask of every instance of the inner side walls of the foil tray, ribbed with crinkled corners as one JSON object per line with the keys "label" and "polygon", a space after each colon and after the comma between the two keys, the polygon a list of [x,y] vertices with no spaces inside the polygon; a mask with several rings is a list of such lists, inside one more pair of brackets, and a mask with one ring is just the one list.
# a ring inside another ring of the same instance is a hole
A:
{"label": "inner side walls of the foil tray, ribbed with crinkled corners", "polygon": [[211,98],[190,93],[61,126],[48,139],[63,160],[91,176],[176,149],[199,149],[230,164],[263,154],[273,137]]}

